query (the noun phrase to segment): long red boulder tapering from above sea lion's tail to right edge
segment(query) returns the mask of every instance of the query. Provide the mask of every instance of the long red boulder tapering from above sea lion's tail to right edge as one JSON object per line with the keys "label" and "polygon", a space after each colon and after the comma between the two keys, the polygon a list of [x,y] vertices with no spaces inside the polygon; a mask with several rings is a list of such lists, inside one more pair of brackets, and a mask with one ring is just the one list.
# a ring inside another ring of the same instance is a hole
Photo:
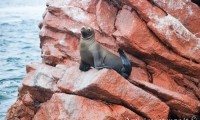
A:
{"label": "long red boulder tapering from above sea lion's tail to right edge", "polygon": [[[167,49],[135,12],[122,9],[117,15],[115,25],[117,31],[114,35],[117,38],[117,43],[128,53],[143,61],[148,62],[151,59],[182,74],[200,78],[200,65]],[[129,27],[130,25],[133,27]]]}

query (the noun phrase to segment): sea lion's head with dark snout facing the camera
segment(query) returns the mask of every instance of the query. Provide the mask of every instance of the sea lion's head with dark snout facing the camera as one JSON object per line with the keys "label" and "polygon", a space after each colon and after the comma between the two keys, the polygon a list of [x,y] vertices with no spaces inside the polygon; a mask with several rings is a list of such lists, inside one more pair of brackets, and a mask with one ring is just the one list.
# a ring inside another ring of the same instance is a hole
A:
{"label": "sea lion's head with dark snout facing the camera", "polygon": [[81,36],[82,38],[89,39],[94,36],[94,29],[88,26],[83,26],[81,28]]}

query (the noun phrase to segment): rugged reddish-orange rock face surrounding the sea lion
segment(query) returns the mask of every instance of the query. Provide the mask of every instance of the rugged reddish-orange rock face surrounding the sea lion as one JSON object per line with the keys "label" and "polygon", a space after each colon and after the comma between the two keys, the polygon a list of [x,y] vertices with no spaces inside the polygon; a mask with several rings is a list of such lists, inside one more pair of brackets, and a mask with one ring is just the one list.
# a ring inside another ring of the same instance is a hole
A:
{"label": "rugged reddish-orange rock face surrounding the sea lion", "polygon": [[[6,119],[198,119],[199,16],[189,0],[49,0],[39,25],[42,63],[26,66]],[[106,49],[126,52],[128,80],[114,70],[79,70],[85,25]]]}

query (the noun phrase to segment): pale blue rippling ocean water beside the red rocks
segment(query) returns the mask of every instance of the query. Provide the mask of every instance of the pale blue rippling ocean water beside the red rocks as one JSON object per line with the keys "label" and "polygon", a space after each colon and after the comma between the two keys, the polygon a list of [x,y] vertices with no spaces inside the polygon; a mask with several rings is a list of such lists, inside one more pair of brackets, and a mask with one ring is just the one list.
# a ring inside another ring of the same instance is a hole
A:
{"label": "pale blue rippling ocean water beside the red rocks", "polygon": [[16,101],[26,64],[41,62],[38,24],[46,0],[0,0],[0,120]]}

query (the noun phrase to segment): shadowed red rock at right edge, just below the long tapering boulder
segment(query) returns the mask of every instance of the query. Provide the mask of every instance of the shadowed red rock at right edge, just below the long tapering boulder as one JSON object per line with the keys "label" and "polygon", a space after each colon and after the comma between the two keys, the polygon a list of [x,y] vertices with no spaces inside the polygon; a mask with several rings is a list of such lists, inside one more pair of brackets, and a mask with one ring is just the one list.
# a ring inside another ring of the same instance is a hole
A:
{"label": "shadowed red rock at right edge, just below the long tapering boulder", "polygon": [[148,65],[147,69],[153,78],[153,84],[196,100],[199,99],[198,88],[194,85],[198,84],[198,79],[180,74],[156,61],[148,60],[148,63],[151,65]]}

